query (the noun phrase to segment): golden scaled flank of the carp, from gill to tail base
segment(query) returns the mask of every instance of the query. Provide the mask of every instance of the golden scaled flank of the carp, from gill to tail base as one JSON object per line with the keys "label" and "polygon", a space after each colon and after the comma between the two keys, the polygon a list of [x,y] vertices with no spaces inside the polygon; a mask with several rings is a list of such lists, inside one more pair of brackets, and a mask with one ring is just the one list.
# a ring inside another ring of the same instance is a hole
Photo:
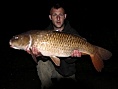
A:
{"label": "golden scaled flank of the carp, from gill to tail base", "polygon": [[67,57],[75,49],[87,54],[93,53],[95,50],[95,47],[85,39],[71,34],[49,32],[43,35],[37,34],[37,36],[39,39],[35,41],[34,45],[46,56],[56,55]]}

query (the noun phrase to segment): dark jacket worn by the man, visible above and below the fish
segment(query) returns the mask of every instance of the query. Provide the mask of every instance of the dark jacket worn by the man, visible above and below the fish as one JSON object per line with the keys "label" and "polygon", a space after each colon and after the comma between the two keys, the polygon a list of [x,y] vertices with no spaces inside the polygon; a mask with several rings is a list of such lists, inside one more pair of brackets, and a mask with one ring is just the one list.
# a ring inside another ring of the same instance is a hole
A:
{"label": "dark jacket worn by the man, visible above and below the fish", "polygon": [[[50,25],[46,28],[46,30],[53,30],[52,23],[50,23]],[[65,22],[65,27],[62,31],[78,35],[78,32],[70,26],[68,21]],[[61,60],[60,66],[59,67],[55,66],[55,69],[59,74],[65,77],[75,74],[76,72],[75,61],[77,60],[77,58],[74,58],[74,57],[62,58],[61,57],[60,60]]]}

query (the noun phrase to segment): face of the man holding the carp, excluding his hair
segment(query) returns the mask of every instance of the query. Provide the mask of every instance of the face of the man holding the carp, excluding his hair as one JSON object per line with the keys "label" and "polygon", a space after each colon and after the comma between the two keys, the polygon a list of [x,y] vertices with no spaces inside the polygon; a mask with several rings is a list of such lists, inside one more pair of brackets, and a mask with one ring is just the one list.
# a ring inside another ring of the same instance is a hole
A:
{"label": "face of the man holding the carp, excluding his hair", "polygon": [[49,15],[50,20],[52,20],[52,23],[56,28],[61,28],[64,24],[64,20],[66,18],[66,14],[64,13],[63,8],[51,9],[51,15]]}

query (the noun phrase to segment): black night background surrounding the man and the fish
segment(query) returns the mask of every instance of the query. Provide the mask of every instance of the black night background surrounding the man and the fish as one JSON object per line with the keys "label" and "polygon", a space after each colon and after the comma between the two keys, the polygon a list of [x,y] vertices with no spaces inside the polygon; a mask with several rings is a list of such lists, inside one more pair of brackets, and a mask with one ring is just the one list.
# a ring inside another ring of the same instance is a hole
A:
{"label": "black night background surrounding the man and the fish", "polygon": [[[31,55],[11,49],[13,35],[31,30],[44,29],[49,25],[50,6],[57,0],[38,2],[1,2],[1,89],[40,89],[36,64]],[[90,59],[78,64],[78,83],[62,84],[78,89],[118,89],[118,8],[115,1],[73,0],[61,1],[67,11],[67,19],[79,34],[92,44],[108,49],[113,56],[104,61],[105,68],[97,73]]]}

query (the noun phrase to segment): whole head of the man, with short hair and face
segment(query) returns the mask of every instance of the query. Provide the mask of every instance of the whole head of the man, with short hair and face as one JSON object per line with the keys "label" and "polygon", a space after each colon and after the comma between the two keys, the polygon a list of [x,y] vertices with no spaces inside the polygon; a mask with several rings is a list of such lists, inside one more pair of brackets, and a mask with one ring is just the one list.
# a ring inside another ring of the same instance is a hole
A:
{"label": "whole head of the man, with short hair and face", "polygon": [[54,5],[50,10],[49,19],[52,20],[54,29],[62,30],[64,28],[64,20],[66,19],[65,10],[59,4]]}

